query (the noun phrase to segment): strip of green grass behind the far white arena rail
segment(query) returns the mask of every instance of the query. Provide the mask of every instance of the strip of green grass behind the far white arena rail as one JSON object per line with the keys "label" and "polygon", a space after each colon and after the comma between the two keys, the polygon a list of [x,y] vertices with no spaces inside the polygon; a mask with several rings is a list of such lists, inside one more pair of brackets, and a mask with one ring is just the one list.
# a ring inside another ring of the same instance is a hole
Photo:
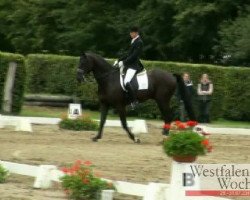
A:
{"label": "strip of green grass behind the far white arena rail", "polygon": [[[44,106],[23,106],[21,116],[30,116],[30,117],[56,117],[61,118],[63,115],[67,115],[68,108],[61,107],[44,107]],[[83,110],[83,114],[91,117],[92,119],[99,119],[99,111]],[[109,113],[108,119],[119,119],[117,115],[112,112]],[[135,119],[134,117],[128,117],[128,119]],[[159,121],[160,120],[152,120]],[[242,121],[229,121],[225,119],[218,119],[212,121],[210,126],[213,127],[229,127],[229,128],[250,128],[250,122]]]}

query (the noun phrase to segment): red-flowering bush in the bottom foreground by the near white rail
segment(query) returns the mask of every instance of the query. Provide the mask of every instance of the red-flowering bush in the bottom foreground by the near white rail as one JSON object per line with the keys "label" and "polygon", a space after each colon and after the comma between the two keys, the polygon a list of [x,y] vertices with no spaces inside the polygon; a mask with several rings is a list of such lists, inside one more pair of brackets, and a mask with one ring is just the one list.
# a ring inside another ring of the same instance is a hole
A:
{"label": "red-flowering bush in the bottom foreground by the near white rail", "polygon": [[71,167],[64,167],[61,177],[65,193],[73,200],[100,200],[102,190],[115,189],[112,183],[97,177],[90,161],[76,161]]}

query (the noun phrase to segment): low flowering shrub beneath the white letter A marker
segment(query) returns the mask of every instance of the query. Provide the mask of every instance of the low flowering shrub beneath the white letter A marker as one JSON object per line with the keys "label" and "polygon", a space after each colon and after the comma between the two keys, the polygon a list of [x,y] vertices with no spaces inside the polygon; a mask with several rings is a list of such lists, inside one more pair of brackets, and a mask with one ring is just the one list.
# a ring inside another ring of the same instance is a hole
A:
{"label": "low flowering shrub beneath the white letter A marker", "polygon": [[64,118],[60,121],[59,127],[62,129],[81,131],[81,130],[97,130],[98,124],[89,117],[78,117],[76,119]]}

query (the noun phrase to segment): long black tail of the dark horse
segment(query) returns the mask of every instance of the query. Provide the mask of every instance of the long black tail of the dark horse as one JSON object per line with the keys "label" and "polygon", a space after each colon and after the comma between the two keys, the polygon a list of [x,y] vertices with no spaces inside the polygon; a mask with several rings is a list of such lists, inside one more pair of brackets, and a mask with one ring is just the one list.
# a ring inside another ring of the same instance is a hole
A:
{"label": "long black tail of the dark horse", "polygon": [[176,77],[179,94],[180,94],[181,100],[183,100],[183,102],[184,102],[184,106],[185,106],[185,109],[187,111],[189,119],[196,120],[195,113],[194,113],[193,106],[192,106],[192,101],[188,95],[185,83],[184,83],[181,75],[179,75],[179,74],[173,74],[173,75]]}

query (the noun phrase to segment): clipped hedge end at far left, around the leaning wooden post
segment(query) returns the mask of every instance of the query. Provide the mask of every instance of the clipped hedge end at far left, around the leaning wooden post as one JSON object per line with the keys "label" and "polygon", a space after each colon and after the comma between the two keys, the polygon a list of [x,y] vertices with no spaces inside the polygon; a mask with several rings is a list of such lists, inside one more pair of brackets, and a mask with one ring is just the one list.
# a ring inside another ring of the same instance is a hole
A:
{"label": "clipped hedge end at far left, around the leaning wooden post", "polygon": [[4,83],[7,78],[6,75],[8,72],[9,62],[12,61],[17,63],[13,90],[12,112],[19,113],[23,103],[23,94],[25,88],[25,61],[22,55],[4,52],[0,52],[0,111],[2,112]]}

